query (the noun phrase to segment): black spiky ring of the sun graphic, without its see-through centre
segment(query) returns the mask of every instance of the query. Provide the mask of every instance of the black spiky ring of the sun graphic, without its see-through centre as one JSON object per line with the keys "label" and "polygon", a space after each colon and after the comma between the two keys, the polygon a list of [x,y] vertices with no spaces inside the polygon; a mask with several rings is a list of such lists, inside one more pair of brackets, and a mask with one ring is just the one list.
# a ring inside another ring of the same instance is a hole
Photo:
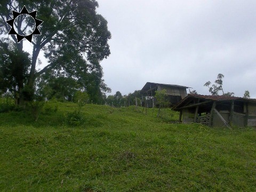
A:
{"label": "black spiky ring of the sun graphic, without its see-through centre", "polygon": [[[33,11],[33,12],[29,13],[28,10],[27,10],[27,8],[26,8],[26,6],[23,7],[23,9],[21,10],[20,13],[17,12],[17,11],[12,11],[13,19],[11,19],[11,20],[9,20],[9,21],[6,21],[6,22],[12,27],[11,30],[9,31],[8,35],[16,35],[16,36],[17,36],[17,41],[18,41],[18,43],[19,43],[23,38],[26,38],[26,39],[31,43],[31,41],[32,41],[32,36],[33,36],[33,35],[40,35],[40,34],[41,34],[37,27],[38,27],[39,25],[41,25],[41,24],[44,22],[44,21],[41,21],[41,20],[39,20],[39,19],[36,19],[36,12],[37,12],[37,11]],[[31,17],[33,17],[33,19],[34,19],[34,21],[35,21],[36,27],[35,27],[33,33],[31,33],[31,34],[29,34],[29,35],[27,35],[27,36],[19,35],[19,34],[15,31],[15,29],[14,29],[14,27],[13,27],[15,18],[17,18],[17,17],[18,17],[19,15],[21,15],[21,14],[28,14],[28,15],[30,15]]]}

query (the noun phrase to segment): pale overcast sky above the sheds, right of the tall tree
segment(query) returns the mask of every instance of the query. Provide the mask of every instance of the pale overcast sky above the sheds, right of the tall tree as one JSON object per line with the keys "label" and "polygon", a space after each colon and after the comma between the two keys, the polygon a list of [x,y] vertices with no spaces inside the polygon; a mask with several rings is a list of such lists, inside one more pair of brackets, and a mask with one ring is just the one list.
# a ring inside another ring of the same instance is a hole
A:
{"label": "pale overcast sky above the sheds, right of the tall tree", "polygon": [[[101,62],[111,94],[146,82],[193,87],[223,74],[224,92],[256,98],[256,1],[98,0],[110,56]],[[193,90],[193,89],[190,89]]]}

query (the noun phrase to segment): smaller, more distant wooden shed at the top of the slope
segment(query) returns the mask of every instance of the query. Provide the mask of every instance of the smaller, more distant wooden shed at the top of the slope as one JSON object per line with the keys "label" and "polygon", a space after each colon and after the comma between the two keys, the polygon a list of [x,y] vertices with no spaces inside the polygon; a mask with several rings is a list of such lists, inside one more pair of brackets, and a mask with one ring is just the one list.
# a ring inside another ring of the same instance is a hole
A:
{"label": "smaller, more distant wooden shed at the top of the slope", "polygon": [[140,93],[143,96],[151,97],[153,98],[153,105],[150,104],[149,107],[153,107],[154,103],[156,101],[154,96],[156,94],[156,91],[160,90],[166,90],[166,98],[171,103],[171,105],[174,105],[175,103],[178,103],[183,98],[187,96],[187,89],[190,87],[187,86],[181,86],[181,85],[171,85],[171,84],[162,84],[162,83],[150,83],[147,82],[143,88],[141,89]]}

